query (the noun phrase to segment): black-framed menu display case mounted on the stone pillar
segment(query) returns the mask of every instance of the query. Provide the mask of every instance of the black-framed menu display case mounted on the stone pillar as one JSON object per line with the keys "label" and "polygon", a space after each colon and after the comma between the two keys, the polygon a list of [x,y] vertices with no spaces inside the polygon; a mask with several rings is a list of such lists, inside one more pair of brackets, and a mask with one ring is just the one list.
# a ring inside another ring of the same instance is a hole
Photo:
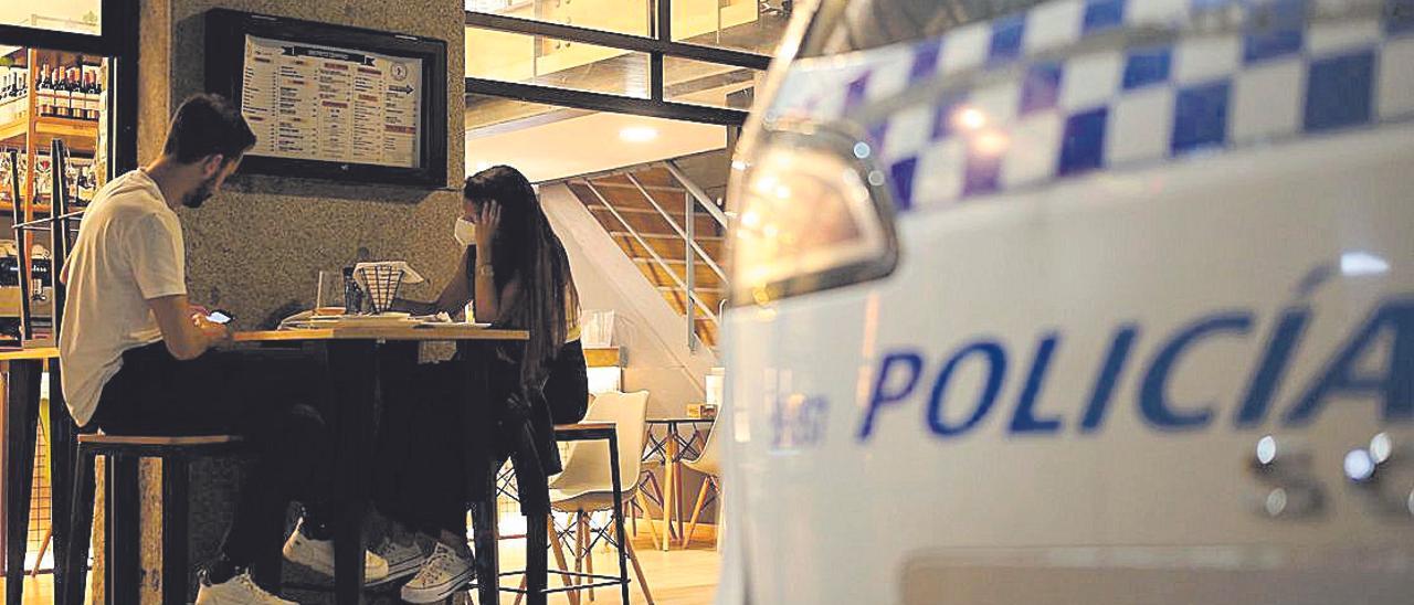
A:
{"label": "black-framed menu display case mounted on the stone pillar", "polygon": [[256,133],[242,172],[440,187],[447,44],[228,10],[206,14],[206,85]]}

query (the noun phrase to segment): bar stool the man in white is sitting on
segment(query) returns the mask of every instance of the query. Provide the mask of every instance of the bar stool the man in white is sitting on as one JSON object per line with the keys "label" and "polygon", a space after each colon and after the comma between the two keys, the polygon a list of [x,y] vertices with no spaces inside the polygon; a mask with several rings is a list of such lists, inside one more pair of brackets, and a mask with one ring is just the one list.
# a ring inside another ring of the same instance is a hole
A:
{"label": "bar stool the man in white is sitting on", "polygon": [[[239,454],[236,435],[132,437],[79,435],[75,461],[69,547],[65,565],[69,578],[62,602],[82,605],[89,539],[93,530],[93,474],[98,457],[107,459],[107,498],[103,503],[106,527],[105,595],[109,604],[139,602],[141,585],[139,550],[139,475],[141,458],[163,461],[163,604],[185,604],[189,594],[187,561],[187,488],[189,462],[195,458]],[[89,506],[85,506],[89,505]]]}

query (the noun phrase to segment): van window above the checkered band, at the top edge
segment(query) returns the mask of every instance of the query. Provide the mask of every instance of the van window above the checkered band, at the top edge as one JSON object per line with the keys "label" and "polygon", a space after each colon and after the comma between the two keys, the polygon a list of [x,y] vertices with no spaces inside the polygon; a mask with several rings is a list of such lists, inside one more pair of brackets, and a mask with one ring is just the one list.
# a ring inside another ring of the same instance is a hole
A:
{"label": "van window above the checkered band, at the top edge", "polygon": [[942,35],[969,23],[1018,13],[1044,0],[826,0],[800,57],[867,51]]}

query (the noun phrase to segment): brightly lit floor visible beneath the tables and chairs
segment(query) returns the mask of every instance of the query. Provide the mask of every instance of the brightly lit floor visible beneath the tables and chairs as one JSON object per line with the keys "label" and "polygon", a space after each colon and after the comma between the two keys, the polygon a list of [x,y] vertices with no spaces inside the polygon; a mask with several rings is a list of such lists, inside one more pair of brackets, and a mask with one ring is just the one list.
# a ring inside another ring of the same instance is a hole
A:
{"label": "brightly lit floor visible beneath the tables and chairs", "polygon": [[[639,561],[643,564],[643,575],[648,577],[649,589],[653,592],[653,602],[660,605],[706,605],[713,599],[713,594],[717,588],[717,570],[720,567],[720,560],[717,551],[713,548],[711,540],[694,541],[691,547],[673,548],[672,551],[663,553],[656,550],[650,543],[648,531],[639,526],[639,539],[633,541],[638,548]],[[525,561],[525,550],[515,540],[508,540],[502,543],[502,568],[520,568]],[[551,565],[554,565],[554,558],[550,558]],[[571,563],[573,565],[573,563]],[[618,570],[617,556],[612,550],[595,548],[594,551],[594,571],[597,574],[612,574]],[[632,567],[629,568],[629,578],[633,584],[629,585],[629,595],[633,604],[646,604],[643,598],[643,591],[638,585],[638,580],[633,578]],[[3,587],[4,580],[0,578],[0,587]],[[557,575],[550,577],[550,585],[560,585]],[[608,591],[594,591],[594,602],[600,604],[617,604],[619,602],[619,592],[617,589]],[[25,578],[24,582],[24,605],[51,605],[54,602],[54,582],[51,575],[42,574],[38,578]],[[515,594],[502,594],[502,604],[513,604]],[[567,604],[568,599],[561,595],[550,598],[550,604]],[[583,601],[581,601],[583,602]]]}

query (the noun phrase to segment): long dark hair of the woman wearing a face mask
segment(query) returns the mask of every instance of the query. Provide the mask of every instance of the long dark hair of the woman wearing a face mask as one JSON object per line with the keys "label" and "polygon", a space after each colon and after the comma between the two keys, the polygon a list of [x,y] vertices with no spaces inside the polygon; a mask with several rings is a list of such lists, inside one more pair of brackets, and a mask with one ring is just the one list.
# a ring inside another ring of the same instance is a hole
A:
{"label": "long dark hair of the woman wearing a face mask", "polygon": [[520,359],[520,380],[527,386],[540,384],[550,360],[564,345],[570,322],[578,321],[568,317],[580,308],[570,256],[550,229],[534,188],[519,170],[496,165],[477,172],[467,178],[462,195],[478,204],[492,199],[501,204],[501,226],[491,243],[496,294],[519,277],[520,295],[501,310],[496,324],[530,331]]}

